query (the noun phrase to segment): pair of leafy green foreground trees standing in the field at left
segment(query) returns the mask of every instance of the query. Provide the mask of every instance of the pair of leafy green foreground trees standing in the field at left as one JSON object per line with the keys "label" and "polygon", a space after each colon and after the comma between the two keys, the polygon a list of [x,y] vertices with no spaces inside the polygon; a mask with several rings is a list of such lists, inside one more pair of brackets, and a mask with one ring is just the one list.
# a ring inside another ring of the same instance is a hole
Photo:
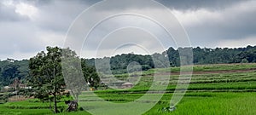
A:
{"label": "pair of leafy green foreground trees standing in the field at left", "polygon": [[81,62],[71,49],[58,47],[46,49],[46,53],[42,51],[30,59],[31,76],[27,78],[27,82],[32,86],[35,97],[42,101],[54,101],[54,110],[59,112],[57,101],[61,98],[58,97],[64,95],[61,92],[66,89],[66,86],[77,100],[81,90],[85,88],[85,81],[90,83],[91,87],[97,87],[100,78],[97,76],[96,69],[86,66],[85,60]]}

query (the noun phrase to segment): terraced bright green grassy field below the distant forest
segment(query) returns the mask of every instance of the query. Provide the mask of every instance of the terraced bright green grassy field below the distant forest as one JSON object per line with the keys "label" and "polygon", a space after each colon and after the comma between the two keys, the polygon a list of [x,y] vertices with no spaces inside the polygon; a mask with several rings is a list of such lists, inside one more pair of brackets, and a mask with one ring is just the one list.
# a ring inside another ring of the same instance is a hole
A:
{"label": "terraced bright green grassy field below the distant forest", "polygon": [[[194,74],[186,95],[183,96],[176,110],[166,112],[165,108],[170,106],[172,93],[176,88],[178,78],[178,67],[158,69],[156,77],[166,77],[166,73],[172,72],[166,93],[156,101],[148,112],[144,114],[195,114],[195,115],[254,115],[256,114],[256,64],[219,64],[194,66]],[[101,105],[101,101],[113,103],[127,103],[137,101],[148,93],[152,84],[154,70],[143,72],[143,78],[135,87],[128,90],[97,90],[96,95],[101,100],[87,100],[90,95],[82,95],[86,103],[85,110],[97,110],[96,107],[106,107],[106,111],[115,112],[113,106]],[[128,74],[117,75],[118,78],[127,78]],[[161,86],[161,84],[157,84]],[[154,89],[153,89],[154,90]],[[148,99],[160,96],[160,94],[149,93]],[[141,103],[154,103],[154,101],[143,101]],[[62,99],[58,105],[63,109],[67,107]],[[82,105],[83,106],[83,105]],[[0,104],[0,114],[52,114],[49,111],[49,103],[42,103],[36,99],[27,101],[7,102]],[[134,111],[129,110],[128,111]],[[107,113],[107,112],[106,112]],[[88,112],[63,112],[60,114],[89,114]]]}

